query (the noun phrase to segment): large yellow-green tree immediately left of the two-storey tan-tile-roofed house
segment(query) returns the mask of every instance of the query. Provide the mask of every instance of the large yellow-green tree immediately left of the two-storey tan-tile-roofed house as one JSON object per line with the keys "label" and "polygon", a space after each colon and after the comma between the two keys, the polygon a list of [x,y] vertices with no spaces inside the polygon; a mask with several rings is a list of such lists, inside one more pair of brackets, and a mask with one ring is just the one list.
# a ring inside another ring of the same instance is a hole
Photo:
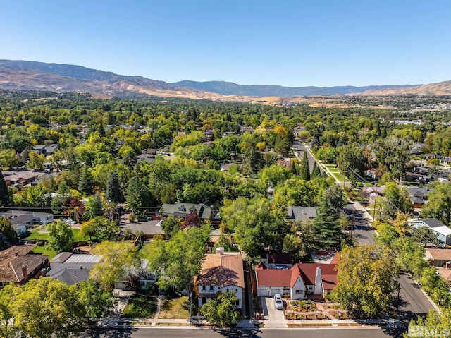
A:
{"label": "large yellow-green tree immediately left of the two-storey tan-tile-roofed house", "polygon": [[161,289],[173,285],[191,294],[192,279],[199,274],[209,232],[208,225],[192,227],[178,231],[169,241],[154,239],[144,246],[143,254],[149,260],[149,269],[158,272],[156,284]]}

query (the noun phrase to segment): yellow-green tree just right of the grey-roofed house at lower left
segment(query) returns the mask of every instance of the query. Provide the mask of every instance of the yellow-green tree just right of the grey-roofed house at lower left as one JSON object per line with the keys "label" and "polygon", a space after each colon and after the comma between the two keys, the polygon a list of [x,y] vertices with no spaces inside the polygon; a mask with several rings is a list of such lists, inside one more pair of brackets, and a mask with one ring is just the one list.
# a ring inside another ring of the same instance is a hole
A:
{"label": "yellow-green tree just right of the grey-roofed house at lower left", "polygon": [[131,241],[103,241],[92,253],[101,255],[101,260],[89,272],[89,277],[106,290],[112,290],[116,282],[125,280],[129,269],[141,266],[137,248]]}

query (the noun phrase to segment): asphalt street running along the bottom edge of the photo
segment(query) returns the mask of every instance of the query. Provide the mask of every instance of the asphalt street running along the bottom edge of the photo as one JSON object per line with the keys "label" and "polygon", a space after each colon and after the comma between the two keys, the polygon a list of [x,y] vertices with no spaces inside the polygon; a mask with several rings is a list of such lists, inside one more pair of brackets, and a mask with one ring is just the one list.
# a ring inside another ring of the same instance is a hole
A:
{"label": "asphalt street running along the bottom edge of the photo", "polygon": [[262,330],[240,330],[240,329],[211,329],[211,328],[156,328],[156,327],[134,327],[130,329],[92,330],[85,332],[80,338],[140,338],[140,337],[166,337],[166,338],[386,338],[402,337],[401,332],[390,332],[381,328],[289,328],[289,329],[262,329]]}

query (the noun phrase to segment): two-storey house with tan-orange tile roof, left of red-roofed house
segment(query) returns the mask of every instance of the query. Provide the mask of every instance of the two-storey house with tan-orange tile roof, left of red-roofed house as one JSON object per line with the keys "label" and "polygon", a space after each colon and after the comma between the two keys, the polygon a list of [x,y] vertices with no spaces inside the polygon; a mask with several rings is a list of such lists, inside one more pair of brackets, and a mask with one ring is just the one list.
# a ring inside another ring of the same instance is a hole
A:
{"label": "two-storey house with tan-orange tile roof, left of red-roofed house", "polygon": [[238,300],[234,306],[242,308],[245,274],[241,253],[228,253],[223,249],[218,249],[216,253],[207,253],[195,285],[197,286],[199,307],[205,304],[208,298],[215,298],[218,291],[235,291]]}

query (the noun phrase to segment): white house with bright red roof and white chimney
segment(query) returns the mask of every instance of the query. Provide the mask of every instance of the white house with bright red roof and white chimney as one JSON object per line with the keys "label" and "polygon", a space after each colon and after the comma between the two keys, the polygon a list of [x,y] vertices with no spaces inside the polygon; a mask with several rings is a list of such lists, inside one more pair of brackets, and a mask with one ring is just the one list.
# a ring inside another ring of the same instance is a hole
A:
{"label": "white house with bright red roof and white chimney", "polygon": [[336,264],[297,263],[290,270],[256,267],[257,296],[290,294],[291,299],[326,296],[337,285]]}

